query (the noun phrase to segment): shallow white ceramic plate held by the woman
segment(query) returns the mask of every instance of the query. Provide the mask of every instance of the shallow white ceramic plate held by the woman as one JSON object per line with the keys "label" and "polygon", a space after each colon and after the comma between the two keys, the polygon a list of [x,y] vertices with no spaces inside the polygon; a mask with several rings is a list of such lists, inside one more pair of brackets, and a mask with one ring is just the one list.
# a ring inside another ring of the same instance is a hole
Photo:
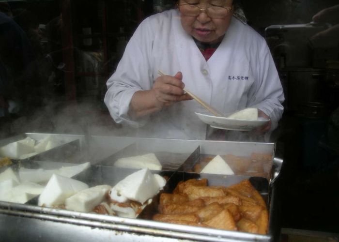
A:
{"label": "shallow white ceramic plate held by the woman", "polygon": [[201,113],[196,114],[198,115],[201,121],[209,124],[211,127],[226,130],[250,131],[270,121],[264,118],[258,118],[257,120],[237,120],[237,119],[228,119],[225,117],[216,117]]}

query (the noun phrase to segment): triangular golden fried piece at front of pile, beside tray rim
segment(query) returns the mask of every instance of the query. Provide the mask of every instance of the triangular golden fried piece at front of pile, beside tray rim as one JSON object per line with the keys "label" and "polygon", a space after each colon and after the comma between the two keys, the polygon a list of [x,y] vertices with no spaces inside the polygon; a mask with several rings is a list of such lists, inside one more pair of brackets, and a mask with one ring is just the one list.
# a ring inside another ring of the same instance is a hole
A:
{"label": "triangular golden fried piece at front of pile, beside tray rim", "polygon": [[204,224],[212,228],[237,230],[233,216],[228,209],[222,210],[210,220],[205,221]]}

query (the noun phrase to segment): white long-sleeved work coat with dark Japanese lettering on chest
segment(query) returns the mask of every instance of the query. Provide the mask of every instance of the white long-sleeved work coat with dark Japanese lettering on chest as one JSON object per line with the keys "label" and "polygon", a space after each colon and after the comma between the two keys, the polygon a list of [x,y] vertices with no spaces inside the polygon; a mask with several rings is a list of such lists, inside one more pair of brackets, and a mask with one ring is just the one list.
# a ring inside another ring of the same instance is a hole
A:
{"label": "white long-sleeved work coat with dark Japanese lettering on chest", "polygon": [[194,100],[138,120],[128,116],[133,94],[151,89],[158,70],[171,76],[181,71],[187,90],[224,113],[257,107],[271,118],[272,129],[282,116],[284,95],[269,48],[260,34],[235,17],[208,61],[182,28],[178,10],[146,18],[107,82],[110,115],[137,128],[136,136],[205,139],[206,124],[195,112],[206,110]]}

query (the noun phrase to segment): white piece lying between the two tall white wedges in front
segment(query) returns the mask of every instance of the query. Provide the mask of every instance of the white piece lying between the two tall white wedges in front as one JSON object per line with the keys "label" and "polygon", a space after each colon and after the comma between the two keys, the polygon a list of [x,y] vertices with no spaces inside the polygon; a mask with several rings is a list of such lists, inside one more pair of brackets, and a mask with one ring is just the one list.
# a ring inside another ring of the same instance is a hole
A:
{"label": "white piece lying between the two tall white wedges in front", "polygon": [[68,210],[78,212],[91,212],[95,206],[99,205],[105,198],[109,185],[99,185],[84,189],[65,200],[65,207]]}

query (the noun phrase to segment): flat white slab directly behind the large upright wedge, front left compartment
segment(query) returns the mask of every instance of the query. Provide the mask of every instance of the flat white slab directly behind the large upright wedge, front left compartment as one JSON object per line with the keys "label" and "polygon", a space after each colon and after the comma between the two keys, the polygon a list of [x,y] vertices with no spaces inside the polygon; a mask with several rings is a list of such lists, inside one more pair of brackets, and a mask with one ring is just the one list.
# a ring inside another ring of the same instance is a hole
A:
{"label": "flat white slab directly behind the large upright wedge, front left compartment", "polygon": [[19,177],[22,182],[47,182],[53,174],[58,173],[58,169],[44,170],[44,169],[27,169],[21,167],[19,169]]}

